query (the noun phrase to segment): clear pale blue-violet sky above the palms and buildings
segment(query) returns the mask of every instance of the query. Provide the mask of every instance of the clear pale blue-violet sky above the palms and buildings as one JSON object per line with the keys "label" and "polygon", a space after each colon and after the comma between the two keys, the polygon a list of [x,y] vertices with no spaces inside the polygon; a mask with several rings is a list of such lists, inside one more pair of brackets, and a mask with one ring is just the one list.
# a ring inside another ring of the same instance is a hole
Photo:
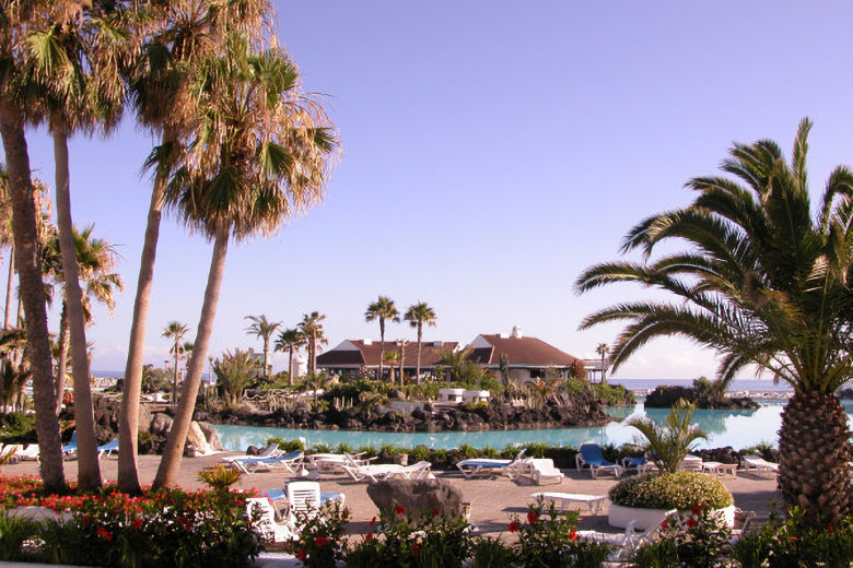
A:
{"label": "clear pale blue-violet sky above the palms and buildings", "polygon": [[[267,240],[232,247],[211,354],[260,348],[244,316],[295,326],[327,315],[329,347],[378,339],[377,295],[437,312],[429,340],[467,343],[519,324],[595,356],[619,326],[581,319],[643,294],[577,296],[587,265],[618,258],[641,218],[685,204],[732,141],[791,146],[815,120],[813,192],[853,164],[853,5],[844,2],[277,2],[305,90],[327,94],[342,158],[326,201]],[[52,184],[44,132],[30,135]],[[74,221],[114,242],[127,291],[89,330],[94,369],[124,369],[153,141],[132,120],[71,146]],[[198,322],[210,245],[174,218],[161,232],[145,359],[162,365],[171,320]],[[5,259],[3,260],[5,262]],[[57,320],[51,321],[56,329]],[[413,339],[390,324],[387,339]],[[276,369],[287,366],[277,354]],[[712,376],[713,354],[655,342],[618,378]]]}

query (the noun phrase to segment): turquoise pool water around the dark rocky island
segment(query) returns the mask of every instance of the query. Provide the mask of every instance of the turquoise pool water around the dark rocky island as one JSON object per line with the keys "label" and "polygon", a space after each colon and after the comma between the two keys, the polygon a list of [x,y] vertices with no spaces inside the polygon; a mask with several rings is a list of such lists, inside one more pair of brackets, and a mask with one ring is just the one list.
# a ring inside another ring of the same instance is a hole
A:
{"label": "turquoise pool water around the dark rocky island", "polygon": [[[759,442],[775,445],[779,439],[779,428],[782,425],[782,409],[784,401],[762,401],[759,409],[749,411],[708,411],[698,410],[693,413],[693,424],[698,424],[708,435],[706,440],[699,440],[698,448],[722,448],[732,446],[739,450]],[[844,402],[848,418],[853,413],[853,402]],[[308,430],[295,428],[269,428],[256,426],[215,425],[222,439],[222,445],[231,451],[243,451],[248,446],[266,446],[267,439],[273,436],[288,440],[305,438],[307,447],[316,445],[337,446],[347,443],[353,448],[359,446],[395,445],[411,448],[424,445],[429,448],[458,448],[468,443],[475,448],[490,446],[502,449],[507,445],[522,442],[540,442],[549,446],[579,447],[587,440],[599,445],[627,443],[639,436],[635,428],[623,424],[624,418],[633,416],[650,416],[663,422],[669,413],[666,409],[645,410],[639,402],[633,407],[610,409],[614,421],[605,426],[591,428],[554,428],[542,430],[489,430],[489,431],[439,431],[439,433],[386,433],[386,431],[353,431],[353,430]]]}

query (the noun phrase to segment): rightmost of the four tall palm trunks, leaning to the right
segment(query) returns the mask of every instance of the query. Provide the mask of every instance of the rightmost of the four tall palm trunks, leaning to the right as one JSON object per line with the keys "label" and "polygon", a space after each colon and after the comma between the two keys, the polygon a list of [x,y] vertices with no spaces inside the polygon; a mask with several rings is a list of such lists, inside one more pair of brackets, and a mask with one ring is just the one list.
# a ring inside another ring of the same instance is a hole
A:
{"label": "rightmost of the four tall palm trunks, leaning to the right", "polygon": [[175,411],[175,418],[172,422],[172,429],[168,431],[168,440],[163,451],[163,459],[154,477],[154,488],[172,485],[180,468],[184,445],[187,441],[187,431],[189,431],[189,424],[192,422],[196,397],[201,384],[201,374],[205,370],[205,358],[208,356],[210,335],[213,332],[213,319],[217,316],[217,303],[219,301],[219,291],[222,287],[227,250],[229,232],[227,229],[219,229],[213,241],[208,285],[205,291],[205,301],[201,306],[201,317],[198,322],[192,355],[189,358],[187,378],[184,381],[184,392],[180,397],[180,403]]}

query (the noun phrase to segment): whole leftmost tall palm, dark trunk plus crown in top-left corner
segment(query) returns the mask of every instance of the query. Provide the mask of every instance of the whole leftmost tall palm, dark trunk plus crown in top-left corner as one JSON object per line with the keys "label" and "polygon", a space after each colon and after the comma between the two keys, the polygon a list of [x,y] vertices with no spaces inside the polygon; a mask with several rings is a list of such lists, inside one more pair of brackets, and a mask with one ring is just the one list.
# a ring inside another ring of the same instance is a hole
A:
{"label": "whole leftmost tall palm, dark trunk plus crown in top-left corner", "polygon": [[24,125],[33,120],[34,104],[27,93],[24,68],[26,37],[32,29],[63,21],[66,2],[36,1],[26,10],[3,10],[0,24],[0,138],[5,152],[7,174],[12,201],[14,261],[20,282],[20,298],[26,316],[26,356],[33,381],[36,410],[40,474],[47,490],[66,486],[59,421],[56,416],[50,340],[47,330],[45,291],[38,256],[36,194],[33,191],[30,155]]}

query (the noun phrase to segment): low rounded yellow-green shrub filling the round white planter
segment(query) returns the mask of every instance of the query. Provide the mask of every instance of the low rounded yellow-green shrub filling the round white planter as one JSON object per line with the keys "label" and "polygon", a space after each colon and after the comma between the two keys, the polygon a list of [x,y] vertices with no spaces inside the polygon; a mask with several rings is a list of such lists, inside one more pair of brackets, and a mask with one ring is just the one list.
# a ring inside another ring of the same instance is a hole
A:
{"label": "low rounded yellow-green shrub filling the round white planter", "polygon": [[722,509],[734,502],[723,482],[704,473],[652,472],[619,482],[610,500],[623,507],[688,510],[708,504]]}

